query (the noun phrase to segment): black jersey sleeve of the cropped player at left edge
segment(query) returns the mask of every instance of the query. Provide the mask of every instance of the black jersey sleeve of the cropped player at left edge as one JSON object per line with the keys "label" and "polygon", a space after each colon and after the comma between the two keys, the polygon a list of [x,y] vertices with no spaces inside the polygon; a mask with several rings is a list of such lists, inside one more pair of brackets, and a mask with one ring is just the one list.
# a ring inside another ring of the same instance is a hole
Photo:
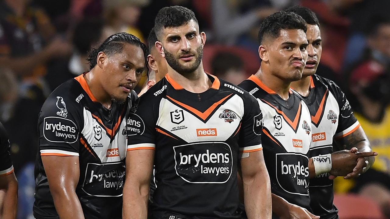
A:
{"label": "black jersey sleeve of the cropped player at left edge", "polygon": [[13,171],[9,138],[4,126],[0,123],[0,176],[11,174]]}

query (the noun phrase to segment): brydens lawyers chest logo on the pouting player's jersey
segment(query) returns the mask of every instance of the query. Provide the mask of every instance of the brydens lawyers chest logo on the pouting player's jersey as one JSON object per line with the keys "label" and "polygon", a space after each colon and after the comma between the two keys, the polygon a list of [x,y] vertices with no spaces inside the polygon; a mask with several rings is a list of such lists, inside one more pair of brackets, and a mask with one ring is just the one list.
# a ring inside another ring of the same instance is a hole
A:
{"label": "brydens lawyers chest logo on the pouting player's jersey", "polygon": [[288,193],[308,195],[308,157],[302,154],[276,154],[277,182]]}

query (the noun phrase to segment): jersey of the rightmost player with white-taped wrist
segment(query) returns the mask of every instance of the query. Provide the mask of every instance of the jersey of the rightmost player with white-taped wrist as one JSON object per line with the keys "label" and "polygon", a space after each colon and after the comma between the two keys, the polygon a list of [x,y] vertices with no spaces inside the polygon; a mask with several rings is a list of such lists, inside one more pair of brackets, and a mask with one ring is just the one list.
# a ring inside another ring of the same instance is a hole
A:
{"label": "jersey of the rightmost player with white-taped wrist", "polygon": [[[310,76],[310,93],[303,99],[312,117],[310,157],[331,154],[333,138],[347,136],[360,127],[344,93],[329,79]],[[328,177],[329,173],[323,173],[310,180],[310,206],[321,218],[333,219],[338,216],[333,205],[333,180]]]}

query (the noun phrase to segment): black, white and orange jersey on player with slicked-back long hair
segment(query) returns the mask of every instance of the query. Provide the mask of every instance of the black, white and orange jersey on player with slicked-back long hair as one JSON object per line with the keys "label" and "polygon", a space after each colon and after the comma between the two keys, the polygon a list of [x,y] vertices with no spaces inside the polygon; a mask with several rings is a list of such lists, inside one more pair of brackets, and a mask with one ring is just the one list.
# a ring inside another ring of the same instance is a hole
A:
{"label": "black, white and orange jersey on player with slicked-back long hair", "polygon": [[84,74],[55,89],[38,120],[34,216],[58,218],[41,156],[78,156],[76,194],[85,218],[122,218],[126,158],[126,115],[131,100],[106,109],[92,95]]}

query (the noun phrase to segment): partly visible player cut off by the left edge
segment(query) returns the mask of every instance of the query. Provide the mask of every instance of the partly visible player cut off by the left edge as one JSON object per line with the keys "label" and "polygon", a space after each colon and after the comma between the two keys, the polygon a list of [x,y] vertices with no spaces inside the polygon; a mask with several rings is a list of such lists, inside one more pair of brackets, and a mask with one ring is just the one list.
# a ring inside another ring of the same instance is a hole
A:
{"label": "partly visible player cut off by the left edge", "polygon": [[10,144],[7,132],[0,122],[0,189],[4,197],[0,200],[0,216],[3,219],[15,219],[18,206],[18,181],[14,173],[10,155]]}

